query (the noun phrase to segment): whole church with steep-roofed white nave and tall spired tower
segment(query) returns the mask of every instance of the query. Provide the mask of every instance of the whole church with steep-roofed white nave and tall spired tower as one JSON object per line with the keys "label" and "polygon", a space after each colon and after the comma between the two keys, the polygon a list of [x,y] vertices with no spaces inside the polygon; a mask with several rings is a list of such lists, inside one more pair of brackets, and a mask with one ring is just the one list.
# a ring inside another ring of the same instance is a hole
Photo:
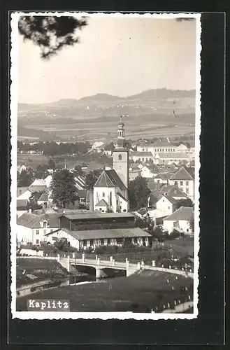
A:
{"label": "whole church with steep-roofed white nave and tall spired tower", "polygon": [[94,211],[129,211],[129,151],[125,148],[124,123],[120,117],[117,144],[113,151],[113,169],[104,169],[94,185]]}

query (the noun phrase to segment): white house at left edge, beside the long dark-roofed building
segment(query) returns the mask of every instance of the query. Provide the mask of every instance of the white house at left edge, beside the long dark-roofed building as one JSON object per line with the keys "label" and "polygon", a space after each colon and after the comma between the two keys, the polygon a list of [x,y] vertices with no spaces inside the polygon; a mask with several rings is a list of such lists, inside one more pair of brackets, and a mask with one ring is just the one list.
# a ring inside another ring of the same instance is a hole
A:
{"label": "white house at left edge, beside the long dark-roofed building", "polygon": [[17,218],[17,241],[21,244],[39,245],[44,235],[59,228],[59,214],[36,215],[24,213]]}

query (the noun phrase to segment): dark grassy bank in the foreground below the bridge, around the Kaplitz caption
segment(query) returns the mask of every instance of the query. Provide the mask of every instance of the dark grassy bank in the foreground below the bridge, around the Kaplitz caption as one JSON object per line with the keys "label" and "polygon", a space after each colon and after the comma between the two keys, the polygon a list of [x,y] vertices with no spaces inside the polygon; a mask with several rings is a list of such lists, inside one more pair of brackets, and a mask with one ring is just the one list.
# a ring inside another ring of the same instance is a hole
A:
{"label": "dark grassy bank in the foreground below the bridge, around the Kaplitz caption", "polygon": [[[184,294],[181,287],[186,287]],[[177,303],[192,300],[193,280],[166,272],[144,270],[129,277],[107,279],[105,283],[87,283],[33,293],[33,299],[66,299],[70,311],[161,312]],[[27,311],[28,296],[17,299],[17,311]]]}

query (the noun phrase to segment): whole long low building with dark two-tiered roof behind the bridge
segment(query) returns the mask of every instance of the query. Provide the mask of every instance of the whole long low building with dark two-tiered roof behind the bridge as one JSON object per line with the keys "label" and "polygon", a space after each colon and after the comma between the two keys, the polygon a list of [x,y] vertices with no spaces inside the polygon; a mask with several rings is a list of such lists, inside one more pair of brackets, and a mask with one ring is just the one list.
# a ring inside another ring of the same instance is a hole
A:
{"label": "whole long low building with dark two-tiered roof behind the bridge", "polygon": [[59,230],[48,232],[45,241],[54,243],[65,238],[78,250],[101,245],[122,246],[124,241],[148,246],[151,235],[136,227],[134,214],[97,213],[64,214],[59,218]]}

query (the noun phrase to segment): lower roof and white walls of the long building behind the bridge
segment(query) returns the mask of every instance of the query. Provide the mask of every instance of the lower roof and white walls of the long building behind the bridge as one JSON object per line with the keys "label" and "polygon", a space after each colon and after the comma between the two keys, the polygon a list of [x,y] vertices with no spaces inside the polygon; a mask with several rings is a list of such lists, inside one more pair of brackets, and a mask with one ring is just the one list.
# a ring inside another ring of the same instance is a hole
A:
{"label": "lower roof and white walls of the long building behind the bridge", "polygon": [[108,230],[71,231],[60,228],[45,235],[45,241],[53,244],[58,239],[65,238],[74,248],[87,249],[89,247],[117,245],[122,246],[124,239],[139,246],[148,246],[151,235],[141,228],[117,228]]}

